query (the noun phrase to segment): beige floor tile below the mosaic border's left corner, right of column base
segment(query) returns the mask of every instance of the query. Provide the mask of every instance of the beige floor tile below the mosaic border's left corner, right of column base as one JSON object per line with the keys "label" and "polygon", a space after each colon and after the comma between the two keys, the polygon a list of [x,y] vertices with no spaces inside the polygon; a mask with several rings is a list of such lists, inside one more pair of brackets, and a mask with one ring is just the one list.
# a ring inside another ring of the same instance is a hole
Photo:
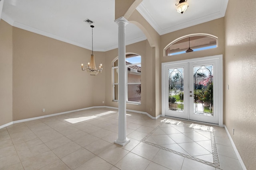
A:
{"label": "beige floor tile below the mosaic border's left corner, right of column base", "polygon": [[146,158],[148,160],[152,160],[159,150],[160,149],[157,147],[153,147],[151,145],[141,142],[134,149],[132,149],[131,152],[142,156],[143,158]]}

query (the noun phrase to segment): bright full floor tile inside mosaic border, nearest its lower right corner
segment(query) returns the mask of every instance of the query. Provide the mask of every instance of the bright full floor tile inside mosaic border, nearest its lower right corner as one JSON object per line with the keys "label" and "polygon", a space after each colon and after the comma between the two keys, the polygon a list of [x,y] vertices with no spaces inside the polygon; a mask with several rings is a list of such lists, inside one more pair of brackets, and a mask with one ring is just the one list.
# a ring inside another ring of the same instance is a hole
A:
{"label": "bright full floor tile inside mosaic border, nearest its lower right corner", "polygon": [[184,149],[186,152],[188,152],[191,156],[199,156],[204,154],[211,154],[208,150],[201,147],[196,142],[190,142],[190,143],[179,143],[180,147]]}

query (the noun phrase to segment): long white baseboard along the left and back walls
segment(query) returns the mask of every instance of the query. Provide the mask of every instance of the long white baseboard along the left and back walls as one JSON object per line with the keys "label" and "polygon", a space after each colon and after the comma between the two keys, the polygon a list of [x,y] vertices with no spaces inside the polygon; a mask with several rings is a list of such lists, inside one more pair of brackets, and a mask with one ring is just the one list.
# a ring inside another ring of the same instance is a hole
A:
{"label": "long white baseboard along the left and back walls", "polygon": [[[36,119],[42,119],[45,117],[52,117],[52,116],[56,116],[56,115],[62,115],[62,114],[66,114],[66,113],[72,113],[72,112],[76,112],[76,111],[82,111],[82,110],[87,110],[87,109],[93,109],[93,108],[110,108],[110,109],[118,109],[117,107],[110,107],[110,106],[93,106],[93,107],[86,107],[83,109],[76,109],[76,110],[71,110],[71,111],[65,111],[65,112],[61,112],[61,113],[55,113],[55,114],[51,114],[51,115],[44,115],[44,116],[39,116],[39,117],[32,117],[32,118],[28,118],[28,119],[22,119],[22,120],[17,120],[17,121],[12,121],[9,123],[6,123],[5,125],[1,125],[0,129],[12,125],[14,123],[21,123],[21,122],[25,122],[25,121],[31,121],[31,120],[36,120]],[[152,115],[148,114],[147,112],[144,111],[136,111],[136,110],[129,110],[126,109],[126,111],[132,111],[135,113],[142,113],[142,114],[146,114],[148,115],[148,117],[150,117],[151,119],[158,119],[160,117],[160,115],[158,115],[157,117],[153,117]]]}

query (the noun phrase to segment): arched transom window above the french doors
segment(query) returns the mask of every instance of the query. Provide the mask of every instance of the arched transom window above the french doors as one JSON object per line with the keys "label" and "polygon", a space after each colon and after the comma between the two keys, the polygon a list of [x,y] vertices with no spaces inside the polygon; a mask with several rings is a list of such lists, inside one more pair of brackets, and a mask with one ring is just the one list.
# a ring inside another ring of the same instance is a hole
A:
{"label": "arched transom window above the french doors", "polygon": [[186,53],[190,48],[193,51],[218,47],[218,39],[212,35],[190,35],[180,37],[165,48],[165,56]]}

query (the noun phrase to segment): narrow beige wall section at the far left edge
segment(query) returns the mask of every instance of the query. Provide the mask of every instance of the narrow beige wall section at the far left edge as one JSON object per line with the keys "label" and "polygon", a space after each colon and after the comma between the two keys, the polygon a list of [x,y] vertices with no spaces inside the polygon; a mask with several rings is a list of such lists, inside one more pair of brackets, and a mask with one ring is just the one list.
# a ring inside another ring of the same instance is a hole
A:
{"label": "narrow beige wall section at the far left edge", "polygon": [[0,20],[0,126],[12,121],[12,26]]}

